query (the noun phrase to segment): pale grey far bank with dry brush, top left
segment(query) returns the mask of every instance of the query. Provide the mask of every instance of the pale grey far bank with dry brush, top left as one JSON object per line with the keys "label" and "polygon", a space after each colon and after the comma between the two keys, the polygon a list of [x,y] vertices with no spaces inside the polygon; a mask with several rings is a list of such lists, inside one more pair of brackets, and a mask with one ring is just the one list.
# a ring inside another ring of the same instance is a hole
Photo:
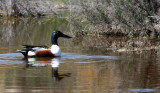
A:
{"label": "pale grey far bank with dry brush, top left", "polygon": [[52,0],[0,0],[0,16],[44,16],[61,11],[78,11],[79,6],[64,5]]}

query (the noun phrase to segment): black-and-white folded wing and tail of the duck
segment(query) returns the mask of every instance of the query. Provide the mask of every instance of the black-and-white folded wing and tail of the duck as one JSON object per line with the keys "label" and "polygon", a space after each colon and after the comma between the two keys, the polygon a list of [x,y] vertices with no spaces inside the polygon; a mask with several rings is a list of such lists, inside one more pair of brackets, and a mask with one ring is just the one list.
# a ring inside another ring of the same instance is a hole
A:
{"label": "black-and-white folded wing and tail of the duck", "polygon": [[45,46],[45,45],[42,45],[42,46],[22,45],[22,46],[23,46],[23,49],[17,50],[17,51],[22,53],[24,56],[29,56],[29,55],[34,56],[34,52],[49,48],[48,46]]}

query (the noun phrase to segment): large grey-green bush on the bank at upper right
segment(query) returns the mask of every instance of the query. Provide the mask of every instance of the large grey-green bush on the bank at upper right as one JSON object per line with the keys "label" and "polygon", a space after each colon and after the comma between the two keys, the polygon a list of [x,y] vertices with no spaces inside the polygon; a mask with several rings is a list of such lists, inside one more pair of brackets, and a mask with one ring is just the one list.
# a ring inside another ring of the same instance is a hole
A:
{"label": "large grey-green bush on the bank at upper right", "polygon": [[83,15],[78,21],[90,24],[92,32],[108,36],[159,37],[160,29],[155,29],[155,25],[160,25],[156,17],[160,13],[157,0],[91,0],[82,2],[82,9]]}

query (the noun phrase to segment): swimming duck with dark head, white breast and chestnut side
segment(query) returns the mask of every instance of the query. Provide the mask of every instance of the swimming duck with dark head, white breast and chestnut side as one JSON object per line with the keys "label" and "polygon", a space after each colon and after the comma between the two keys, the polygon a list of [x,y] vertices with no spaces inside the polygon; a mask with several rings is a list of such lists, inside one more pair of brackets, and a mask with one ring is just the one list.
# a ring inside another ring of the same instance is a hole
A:
{"label": "swimming duck with dark head, white breast and chestnut side", "polygon": [[52,46],[49,48],[47,46],[31,46],[23,45],[23,50],[18,50],[25,57],[57,57],[61,55],[61,49],[58,45],[58,38],[72,38],[68,35],[63,34],[61,31],[53,31],[51,35]]}

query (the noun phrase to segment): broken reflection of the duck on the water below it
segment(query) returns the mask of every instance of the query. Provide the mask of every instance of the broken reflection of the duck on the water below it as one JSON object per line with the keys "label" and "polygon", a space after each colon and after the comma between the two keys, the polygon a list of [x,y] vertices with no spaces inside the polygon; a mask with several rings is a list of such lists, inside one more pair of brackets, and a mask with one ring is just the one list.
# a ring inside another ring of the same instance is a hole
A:
{"label": "broken reflection of the duck on the water below it", "polygon": [[58,69],[61,63],[61,57],[55,58],[24,58],[26,61],[26,67],[46,67],[51,65],[52,67],[52,79],[54,81],[61,81],[65,77],[70,77],[71,73],[59,74]]}

